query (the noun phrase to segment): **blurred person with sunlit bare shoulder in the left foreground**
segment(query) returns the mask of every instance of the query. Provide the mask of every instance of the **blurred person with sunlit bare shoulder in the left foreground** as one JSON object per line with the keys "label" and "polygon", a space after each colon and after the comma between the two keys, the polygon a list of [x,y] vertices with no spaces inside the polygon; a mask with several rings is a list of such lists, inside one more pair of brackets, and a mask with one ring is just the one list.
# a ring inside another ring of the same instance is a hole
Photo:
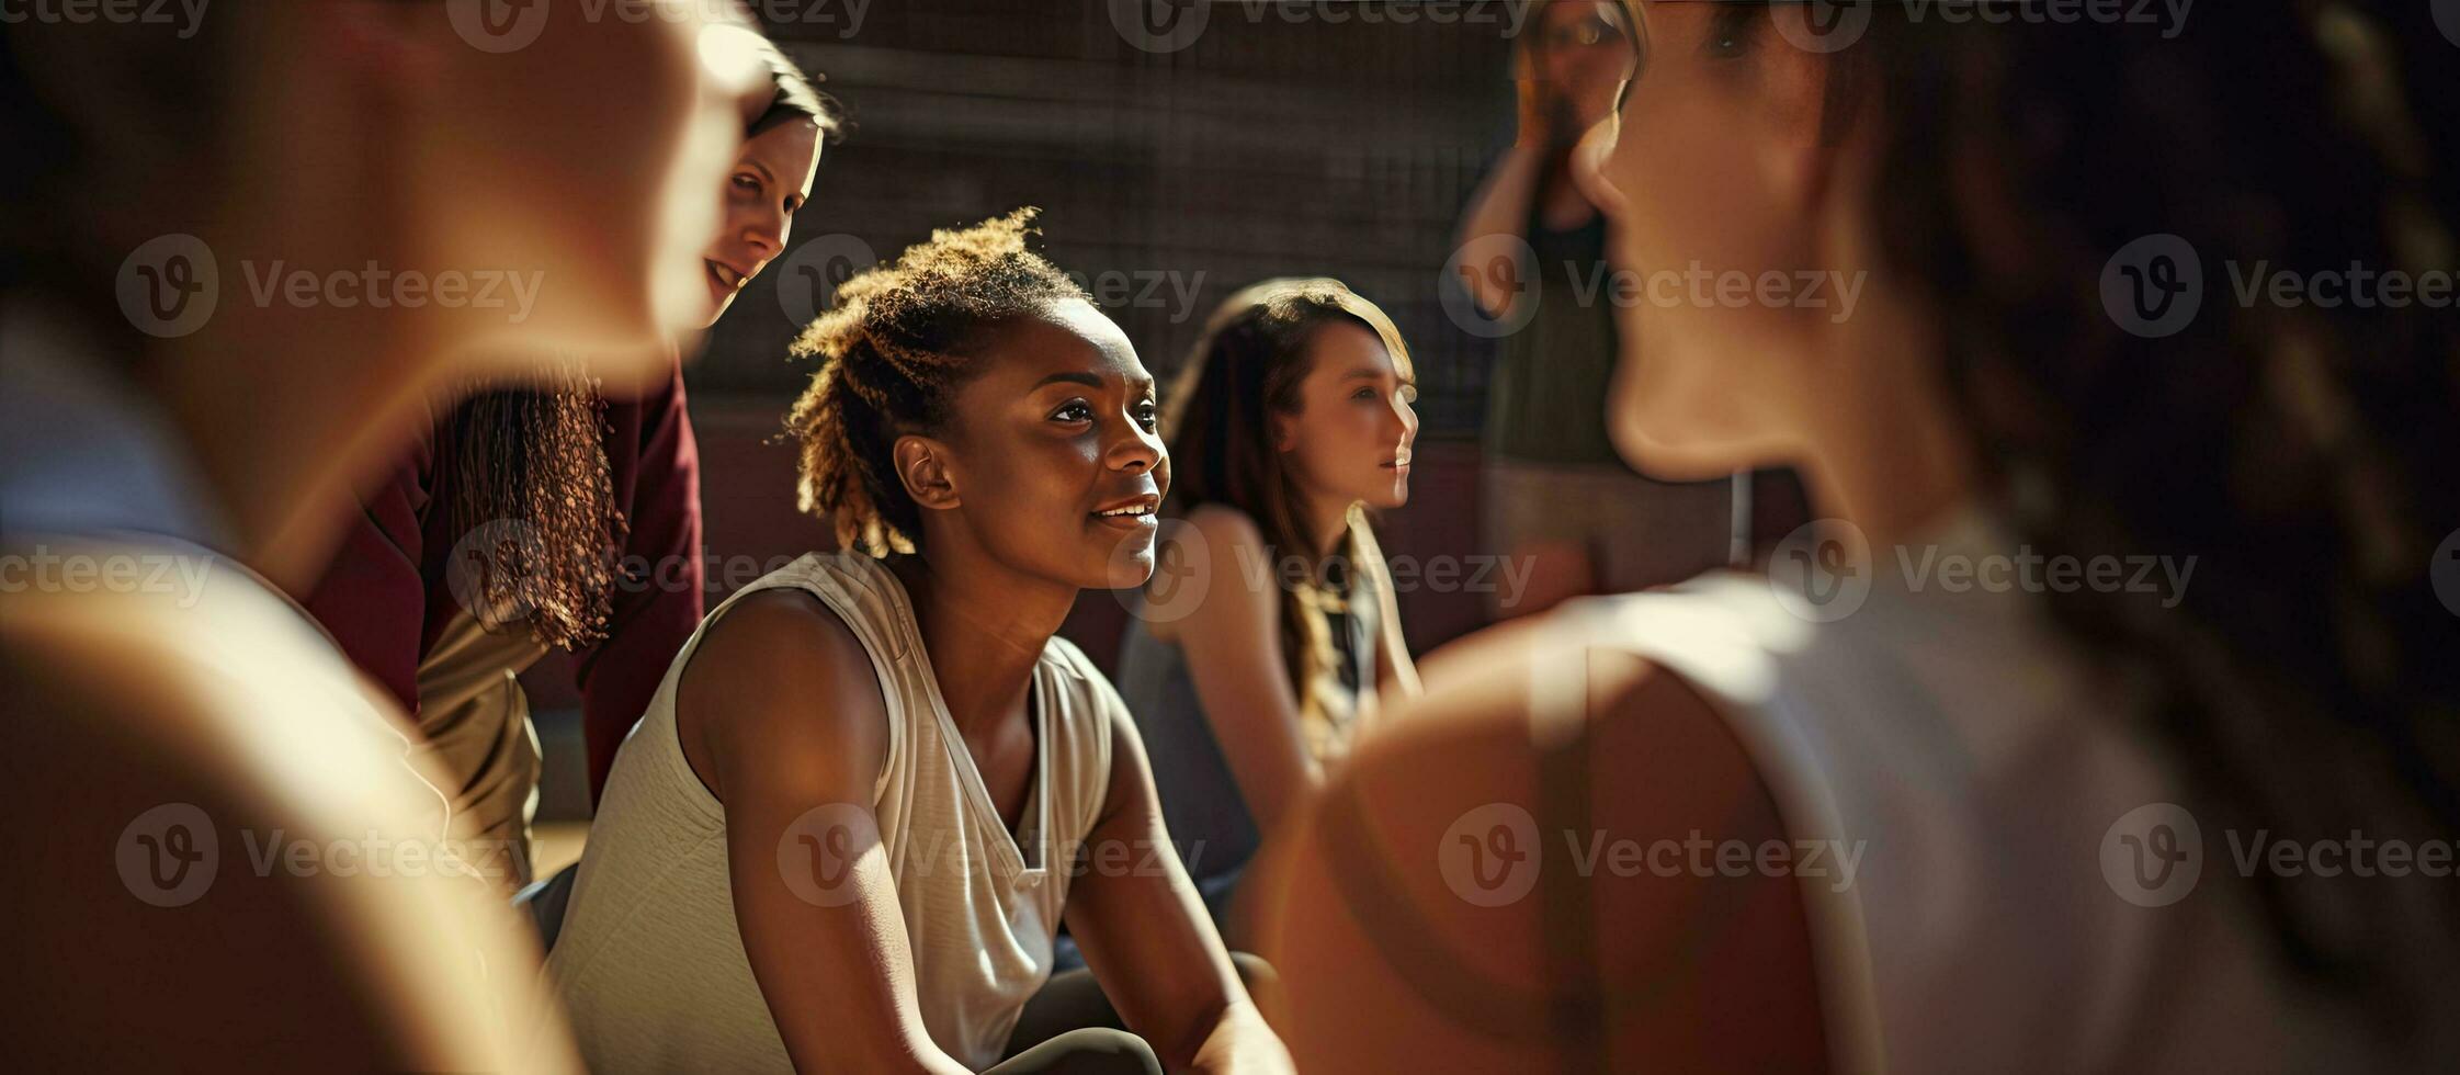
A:
{"label": "blurred person with sunlit bare shoulder in the left foreground", "polygon": [[[7,25],[0,546],[76,568],[0,608],[22,1065],[576,1065],[416,731],[283,593],[435,391],[664,374],[765,84],[672,7],[519,64],[428,2]],[[448,273],[544,285],[401,290]]]}

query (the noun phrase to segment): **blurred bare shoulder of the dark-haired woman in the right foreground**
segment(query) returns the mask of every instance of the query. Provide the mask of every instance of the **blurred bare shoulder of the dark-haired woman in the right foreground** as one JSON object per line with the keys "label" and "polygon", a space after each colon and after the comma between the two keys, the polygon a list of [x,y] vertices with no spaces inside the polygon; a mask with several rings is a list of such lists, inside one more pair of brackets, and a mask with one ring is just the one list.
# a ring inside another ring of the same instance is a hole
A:
{"label": "blurred bare shoulder of the dark-haired woman in the right foreground", "polygon": [[[1292,1011],[1299,1023],[1306,1011],[1346,1014],[1294,1026],[1301,1063],[1373,1070],[1407,1041],[1442,1041],[1469,1068],[1525,1060],[1501,1023],[1542,1014],[1547,900],[1535,886],[1552,876],[1577,878],[1599,920],[1616,922],[1594,937],[1601,979],[1673,982],[1663,1014],[1616,1033],[1680,1058],[1675,1068],[1715,1068],[1754,1050],[1818,1068],[1793,883],[1729,876],[1722,861],[1688,871],[1690,859],[1673,868],[1648,859],[1660,841],[1756,849],[1784,839],[1752,758],[1683,676],[1560,635],[1579,649],[1540,652],[1557,645],[1547,637],[1513,630],[1461,647],[1461,664],[1360,743],[1294,839],[1267,859],[1264,947]],[[1587,699],[1589,708],[1577,760],[1589,797],[1572,817],[1545,795],[1550,770],[1530,731],[1560,699]],[[1710,977],[1702,967],[1752,969]],[[1675,1011],[1756,1016],[1752,1026],[1710,1018],[1717,1026],[1702,1028]]]}

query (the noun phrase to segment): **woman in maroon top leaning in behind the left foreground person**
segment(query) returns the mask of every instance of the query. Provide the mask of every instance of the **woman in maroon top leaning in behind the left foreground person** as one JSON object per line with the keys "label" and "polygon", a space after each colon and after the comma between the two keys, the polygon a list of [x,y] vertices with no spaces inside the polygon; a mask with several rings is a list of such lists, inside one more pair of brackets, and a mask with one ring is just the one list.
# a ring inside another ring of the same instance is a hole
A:
{"label": "woman in maroon top leaning in behind the left foreground person", "polygon": [[[745,116],[726,219],[704,251],[708,307],[785,248],[836,113],[763,42],[777,91]],[[539,738],[519,674],[549,647],[578,667],[595,802],[615,748],[701,622],[699,448],[676,357],[664,386],[600,399],[573,374],[485,391],[438,416],[374,490],[305,605],[384,684],[458,787],[455,834],[499,886],[529,883]]]}

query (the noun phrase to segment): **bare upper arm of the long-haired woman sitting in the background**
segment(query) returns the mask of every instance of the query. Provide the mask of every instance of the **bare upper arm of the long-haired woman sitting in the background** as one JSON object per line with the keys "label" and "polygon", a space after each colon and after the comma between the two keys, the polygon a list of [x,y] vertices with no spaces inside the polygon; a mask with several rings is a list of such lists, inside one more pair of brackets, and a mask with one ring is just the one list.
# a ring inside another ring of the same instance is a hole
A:
{"label": "bare upper arm of the long-haired woman sitting in the background", "polygon": [[1225,507],[1200,507],[1188,517],[1205,553],[1191,556],[1208,571],[1203,588],[1178,620],[1178,647],[1203,701],[1213,740],[1237,777],[1240,797],[1257,831],[1269,834],[1282,814],[1323,782],[1323,768],[1306,753],[1299,731],[1299,691],[1282,664],[1282,595],[1269,571],[1264,536],[1255,522]]}

